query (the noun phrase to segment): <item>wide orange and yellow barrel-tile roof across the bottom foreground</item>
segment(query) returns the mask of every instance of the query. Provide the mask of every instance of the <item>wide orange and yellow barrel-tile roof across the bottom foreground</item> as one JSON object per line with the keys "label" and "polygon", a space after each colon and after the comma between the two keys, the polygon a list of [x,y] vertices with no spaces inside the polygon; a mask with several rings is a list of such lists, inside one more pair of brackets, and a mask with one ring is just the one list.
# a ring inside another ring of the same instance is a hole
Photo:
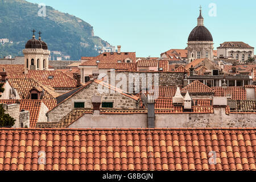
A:
{"label": "wide orange and yellow barrel-tile roof across the bottom foreground", "polygon": [[255,171],[255,130],[1,129],[0,170]]}

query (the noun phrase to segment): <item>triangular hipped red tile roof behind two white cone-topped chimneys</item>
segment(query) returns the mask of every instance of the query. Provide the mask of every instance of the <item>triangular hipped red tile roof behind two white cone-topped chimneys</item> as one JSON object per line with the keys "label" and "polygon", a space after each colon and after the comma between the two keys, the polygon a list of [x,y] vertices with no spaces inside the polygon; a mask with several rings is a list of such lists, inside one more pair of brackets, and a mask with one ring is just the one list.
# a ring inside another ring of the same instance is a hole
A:
{"label": "triangular hipped red tile roof behind two white cone-topped chimneys", "polygon": [[196,80],[193,81],[191,84],[185,86],[183,89],[181,89],[181,93],[187,93],[187,91],[189,93],[196,93],[196,94],[205,94],[205,93],[209,93],[209,94],[213,94],[214,90],[212,88],[210,88],[207,85],[204,85],[202,82]]}

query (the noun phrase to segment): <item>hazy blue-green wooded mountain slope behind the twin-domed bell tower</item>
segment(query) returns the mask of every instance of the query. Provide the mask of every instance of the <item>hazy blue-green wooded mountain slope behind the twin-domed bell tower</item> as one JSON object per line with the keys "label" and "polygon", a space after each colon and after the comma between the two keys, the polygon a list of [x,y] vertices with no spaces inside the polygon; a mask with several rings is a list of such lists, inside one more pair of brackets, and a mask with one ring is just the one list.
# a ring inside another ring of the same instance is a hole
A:
{"label": "hazy blue-green wooded mountain slope behind the twin-domed bell tower", "polygon": [[[96,56],[96,46],[109,45],[94,36],[93,27],[76,16],[61,13],[46,6],[46,16],[39,16],[42,7],[23,0],[0,0],[0,39],[13,40],[13,44],[0,44],[0,57],[20,56],[32,30],[42,31],[42,40],[50,51],[71,55],[72,60],[81,56]],[[38,34],[36,35],[38,38]]]}

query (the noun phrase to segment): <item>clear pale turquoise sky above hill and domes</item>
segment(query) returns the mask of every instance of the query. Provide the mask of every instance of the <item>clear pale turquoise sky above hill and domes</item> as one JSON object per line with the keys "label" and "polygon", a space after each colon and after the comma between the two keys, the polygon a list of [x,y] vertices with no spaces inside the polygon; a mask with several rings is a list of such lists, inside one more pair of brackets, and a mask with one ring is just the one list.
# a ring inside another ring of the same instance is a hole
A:
{"label": "clear pale turquoise sky above hill and domes", "polygon": [[[205,27],[214,49],[225,41],[256,46],[253,0],[28,0],[75,15],[94,28],[94,35],[137,57],[159,57],[171,48],[185,48],[203,7]],[[209,7],[210,6],[210,7]],[[215,8],[216,7],[216,8]],[[47,13],[47,12],[46,12]],[[86,55],[84,55],[86,56]]]}

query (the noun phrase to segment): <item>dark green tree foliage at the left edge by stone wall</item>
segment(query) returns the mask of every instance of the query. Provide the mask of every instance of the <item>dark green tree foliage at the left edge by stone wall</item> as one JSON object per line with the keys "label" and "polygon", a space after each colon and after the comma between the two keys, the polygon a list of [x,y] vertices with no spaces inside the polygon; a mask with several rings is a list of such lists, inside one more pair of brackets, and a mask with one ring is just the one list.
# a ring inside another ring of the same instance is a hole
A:
{"label": "dark green tree foliage at the left edge by stone wall", "polygon": [[[3,83],[0,84],[0,93],[3,93],[5,89],[3,88]],[[0,95],[1,97],[1,95]],[[12,127],[15,124],[15,119],[10,117],[9,114],[5,114],[5,109],[3,105],[0,105],[0,127]]]}

